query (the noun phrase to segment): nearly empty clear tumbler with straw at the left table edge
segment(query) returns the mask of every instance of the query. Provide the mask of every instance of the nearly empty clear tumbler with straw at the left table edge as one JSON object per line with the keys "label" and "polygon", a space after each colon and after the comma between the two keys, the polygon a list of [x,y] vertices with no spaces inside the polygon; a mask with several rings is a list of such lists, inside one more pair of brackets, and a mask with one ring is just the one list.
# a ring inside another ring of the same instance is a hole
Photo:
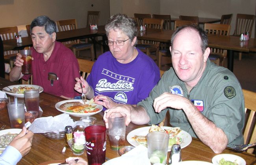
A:
{"label": "nearly empty clear tumbler with straw at the left table edge", "polygon": [[22,128],[25,125],[24,103],[11,102],[7,104],[11,128]]}

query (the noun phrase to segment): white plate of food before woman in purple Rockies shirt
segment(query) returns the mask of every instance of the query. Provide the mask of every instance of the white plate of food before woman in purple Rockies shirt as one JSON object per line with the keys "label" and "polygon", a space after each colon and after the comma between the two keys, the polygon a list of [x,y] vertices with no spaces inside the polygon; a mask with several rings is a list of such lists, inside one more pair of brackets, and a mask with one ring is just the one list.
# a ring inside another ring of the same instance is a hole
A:
{"label": "white plate of food before woman in purple Rockies shirt", "polygon": [[93,99],[87,100],[83,105],[82,100],[65,100],[56,103],[55,108],[72,116],[91,116],[102,111],[103,106],[93,103]]}

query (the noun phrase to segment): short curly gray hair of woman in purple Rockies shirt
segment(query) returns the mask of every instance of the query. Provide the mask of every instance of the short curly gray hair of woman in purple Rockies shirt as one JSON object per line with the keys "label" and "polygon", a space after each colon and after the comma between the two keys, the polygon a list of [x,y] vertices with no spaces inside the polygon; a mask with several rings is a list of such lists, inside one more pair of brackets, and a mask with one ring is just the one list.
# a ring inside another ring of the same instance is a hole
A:
{"label": "short curly gray hair of woman in purple Rockies shirt", "polygon": [[[122,30],[131,40],[138,35],[137,22],[125,14],[116,14],[109,18],[105,25],[106,35],[113,29]],[[137,40],[135,44],[137,43]]]}

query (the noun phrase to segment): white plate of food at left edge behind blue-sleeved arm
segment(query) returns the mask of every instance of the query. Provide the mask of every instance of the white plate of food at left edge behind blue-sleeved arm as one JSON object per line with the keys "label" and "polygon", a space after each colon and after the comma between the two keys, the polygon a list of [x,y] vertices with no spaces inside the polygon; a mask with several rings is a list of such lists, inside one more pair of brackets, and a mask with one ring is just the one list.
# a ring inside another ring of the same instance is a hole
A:
{"label": "white plate of food at left edge behind blue-sleeved arm", "polygon": [[0,151],[3,151],[22,129],[6,129],[0,131]]}

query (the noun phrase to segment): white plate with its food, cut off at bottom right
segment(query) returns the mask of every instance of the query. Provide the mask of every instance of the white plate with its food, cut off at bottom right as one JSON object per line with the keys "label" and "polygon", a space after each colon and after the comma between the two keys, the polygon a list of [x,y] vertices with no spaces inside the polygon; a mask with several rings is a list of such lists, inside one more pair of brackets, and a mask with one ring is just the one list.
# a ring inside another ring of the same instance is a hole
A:
{"label": "white plate with its food, cut off at bottom right", "polygon": [[211,159],[214,165],[246,165],[245,159],[233,154],[219,154]]}

